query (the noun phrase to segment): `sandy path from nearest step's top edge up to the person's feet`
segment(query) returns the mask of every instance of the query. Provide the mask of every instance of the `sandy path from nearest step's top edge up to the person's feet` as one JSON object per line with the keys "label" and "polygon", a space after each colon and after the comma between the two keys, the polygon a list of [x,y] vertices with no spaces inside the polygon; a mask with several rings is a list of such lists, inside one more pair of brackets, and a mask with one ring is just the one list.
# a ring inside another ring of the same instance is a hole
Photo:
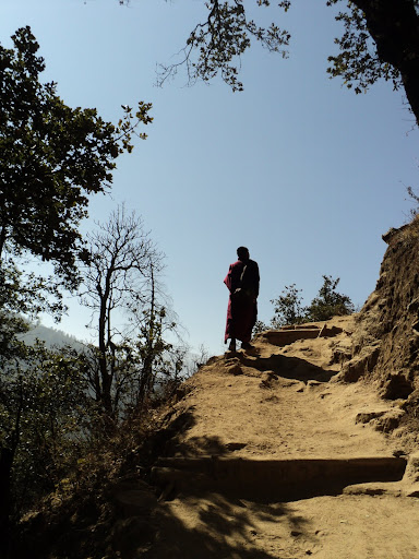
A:
{"label": "sandy path from nearest step's top edge up to the person's feet", "polygon": [[[351,325],[348,319],[335,323]],[[187,382],[190,392],[179,407],[191,411],[193,425],[179,438],[177,452],[220,454],[237,448],[235,456],[243,457],[392,454],[395,443],[356,424],[356,417],[397,403],[381,401],[362,382],[333,382],[339,365],[331,365],[332,354],[347,338],[344,332],[285,347],[262,338],[251,353],[214,358]],[[328,377],[332,382],[324,380]]]}

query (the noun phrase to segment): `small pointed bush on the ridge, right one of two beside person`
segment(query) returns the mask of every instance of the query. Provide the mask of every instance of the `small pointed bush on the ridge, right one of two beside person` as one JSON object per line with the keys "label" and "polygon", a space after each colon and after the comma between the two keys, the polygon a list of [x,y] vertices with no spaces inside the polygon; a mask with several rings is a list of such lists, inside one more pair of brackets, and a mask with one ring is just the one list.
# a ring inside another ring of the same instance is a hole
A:
{"label": "small pointed bush on the ridge, right one of two beside person", "polygon": [[328,320],[332,317],[351,314],[355,311],[352,301],[347,295],[336,292],[340,278],[333,280],[331,275],[323,276],[323,285],[319,295],[307,308],[307,317],[313,322]]}

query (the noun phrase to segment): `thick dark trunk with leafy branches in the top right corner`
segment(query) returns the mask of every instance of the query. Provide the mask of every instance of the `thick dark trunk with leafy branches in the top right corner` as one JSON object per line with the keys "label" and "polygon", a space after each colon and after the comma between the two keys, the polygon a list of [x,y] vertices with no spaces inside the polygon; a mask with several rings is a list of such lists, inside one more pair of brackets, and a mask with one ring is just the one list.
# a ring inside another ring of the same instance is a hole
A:
{"label": "thick dark trunk with leafy branches in the top right corner", "polygon": [[[342,0],[328,0],[336,4]],[[419,15],[418,0],[352,0],[337,21],[344,35],[335,39],[340,53],[330,57],[332,76],[344,79],[356,93],[367,91],[376,80],[403,84],[410,108],[419,121]]]}

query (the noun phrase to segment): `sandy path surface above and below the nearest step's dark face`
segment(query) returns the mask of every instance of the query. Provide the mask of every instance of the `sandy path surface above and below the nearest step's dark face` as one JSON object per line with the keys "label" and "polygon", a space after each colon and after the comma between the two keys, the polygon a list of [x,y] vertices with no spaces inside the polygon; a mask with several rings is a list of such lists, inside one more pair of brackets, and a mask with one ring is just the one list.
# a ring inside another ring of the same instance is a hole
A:
{"label": "sandy path surface above and below the nearest step's dark face", "polygon": [[[403,402],[380,400],[362,381],[337,381],[354,318],[334,319],[327,328],[334,335],[285,346],[260,336],[250,352],[210,360],[171,411],[181,427],[167,456],[264,462],[402,455],[408,461],[414,448],[391,428]],[[179,475],[161,469],[163,498],[152,514],[157,537],[141,557],[419,558],[419,499],[408,497],[418,495],[416,466],[402,480],[284,500],[270,499],[268,491],[263,499],[216,488],[189,492],[185,478],[193,474]]]}

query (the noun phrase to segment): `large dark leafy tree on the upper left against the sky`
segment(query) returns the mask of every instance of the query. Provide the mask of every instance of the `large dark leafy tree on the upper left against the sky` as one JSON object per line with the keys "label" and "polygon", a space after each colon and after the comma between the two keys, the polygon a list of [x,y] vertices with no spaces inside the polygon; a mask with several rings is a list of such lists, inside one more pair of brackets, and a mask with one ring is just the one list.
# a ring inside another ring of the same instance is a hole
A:
{"label": "large dark leafy tree on the upper left against the sky", "polygon": [[85,255],[77,226],[88,195],[110,187],[115,159],[132,150],[137,124],[152,121],[151,105],[141,102],[135,117],[124,107],[118,126],[96,109],[72,109],[56,83],[39,81],[45,62],[31,28],[12,39],[13,49],[0,45],[1,264],[5,251],[29,251],[73,286],[75,261]]}

